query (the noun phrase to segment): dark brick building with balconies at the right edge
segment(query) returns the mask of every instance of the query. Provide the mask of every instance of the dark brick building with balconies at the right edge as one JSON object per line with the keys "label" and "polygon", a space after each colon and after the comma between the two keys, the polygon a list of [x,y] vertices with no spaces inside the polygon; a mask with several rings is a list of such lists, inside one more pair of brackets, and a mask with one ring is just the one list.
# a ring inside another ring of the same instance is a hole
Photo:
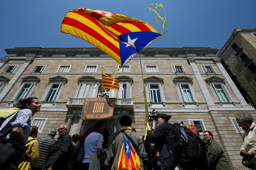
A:
{"label": "dark brick building with balconies at the right edge", "polygon": [[246,102],[255,108],[256,29],[236,28],[218,56]]}

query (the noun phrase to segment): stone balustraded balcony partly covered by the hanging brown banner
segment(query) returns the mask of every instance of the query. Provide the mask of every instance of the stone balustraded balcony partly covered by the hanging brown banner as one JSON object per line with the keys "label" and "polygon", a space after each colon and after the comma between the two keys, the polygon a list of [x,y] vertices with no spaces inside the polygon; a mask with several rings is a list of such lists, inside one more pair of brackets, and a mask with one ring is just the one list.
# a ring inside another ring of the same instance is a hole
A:
{"label": "stone balustraded balcony partly covered by the hanging brown banner", "polygon": [[[68,98],[66,107],[68,109],[82,109],[84,104],[83,98]],[[134,107],[133,99],[116,99],[114,109],[132,110]]]}

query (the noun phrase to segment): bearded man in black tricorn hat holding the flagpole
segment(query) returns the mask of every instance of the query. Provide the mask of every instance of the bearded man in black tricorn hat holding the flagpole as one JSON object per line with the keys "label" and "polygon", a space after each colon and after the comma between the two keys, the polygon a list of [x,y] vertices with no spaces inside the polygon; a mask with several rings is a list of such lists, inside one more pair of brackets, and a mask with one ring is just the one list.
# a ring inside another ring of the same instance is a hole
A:
{"label": "bearded man in black tricorn hat holding the flagpole", "polygon": [[[165,113],[155,113],[151,115],[151,117],[156,121],[156,128],[158,128],[154,134],[152,134],[151,130],[148,130],[147,135],[150,142],[156,144],[159,147],[159,160],[162,166],[162,169],[174,169],[176,167],[176,164],[174,163],[174,158],[172,154],[170,155],[170,158],[166,158],[165,152],[166,148],[168,147],[166,142],[166,136],[173,134],[174,132],[172,130],[172,125],[168,123],[169,119],[172,117],[172,115],[168,115]],[[171,133],[173,132],[173,133]]]}

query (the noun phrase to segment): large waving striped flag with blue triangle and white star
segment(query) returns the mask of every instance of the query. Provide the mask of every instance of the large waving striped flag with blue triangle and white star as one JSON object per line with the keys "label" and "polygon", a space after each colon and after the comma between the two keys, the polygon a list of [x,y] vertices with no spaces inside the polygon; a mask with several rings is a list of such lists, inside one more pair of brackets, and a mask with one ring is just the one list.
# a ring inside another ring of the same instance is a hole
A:
{"label": "large waving striped flag with blue triangle and white star", "polygon": [[60,32],[90,42],[121,65],[161,36],[139,19],[87,8],[69,11],[62,21]]}

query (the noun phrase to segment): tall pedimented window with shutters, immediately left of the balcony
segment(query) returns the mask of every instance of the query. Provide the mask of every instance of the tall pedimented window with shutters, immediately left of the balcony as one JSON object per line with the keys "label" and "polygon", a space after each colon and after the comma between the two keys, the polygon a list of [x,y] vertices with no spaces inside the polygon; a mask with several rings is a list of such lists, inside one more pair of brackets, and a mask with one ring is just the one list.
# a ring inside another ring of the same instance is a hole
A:
{"label": "tall pedimented window with shutters, immediately left of the balcony", "polygon": [[[68,79],[61,76],[49,78],[49,85],[42,96],[42,101],[58,101],[64,85],[67,82]],[[42,105],[44,106],[44,103]]]}

